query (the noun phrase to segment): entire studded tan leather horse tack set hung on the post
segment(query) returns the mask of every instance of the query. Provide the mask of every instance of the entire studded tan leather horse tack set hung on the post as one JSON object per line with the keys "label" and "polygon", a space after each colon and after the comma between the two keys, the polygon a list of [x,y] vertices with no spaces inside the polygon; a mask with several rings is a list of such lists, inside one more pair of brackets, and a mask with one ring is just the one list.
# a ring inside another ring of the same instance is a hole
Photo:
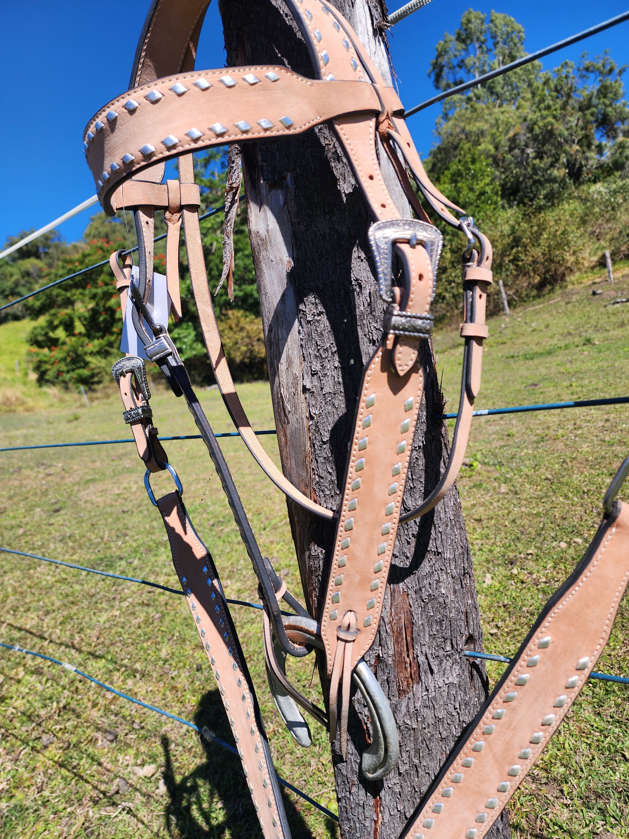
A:
{"label": "entire studded tan leather horse tack set hung on the post", "polygon": [[[382,598],[398,525],[433,508],[455,482],[465,455],[474,400],[481,386],[486,293],[491,284],[491,244],[473,220],[432,185],[408,128],[403,107],[385,85],[351,26],[325,0],[286,0],[309,50],[312,78],[285,66],[196,71],[194,56],[207,0],[155,0],[148,13],[133,67],[131,89],[109,102],[86,127],[86,159],[105,211],[134,210],[139,280],[121,252],[112,269],[121,292],[133,300],[133,326],[145,352],[159,365],[175,396],[184,396],[221,478],[252,560],[264,606],[264,648],[269,686],[289,730],[309,745],[298,706],[340,737],[345,754],[346,722],[353,680],[372,715],[373,742],[362,756],[367,779],[381,779],[398,759],[398,738],[386,698],[363,656],[382,613]],[[380,294],[388,304],[382,341],[363,373],[340,508],[330,511],[290,484],[257,442],[226,364],[205,274],[192,152],[286,137],[330,122],[356,175],[374,223],[369,230]],[[401,218],[382,178],[381,143],[418,216]],[[179,180],[164,179],[164,162],[179,159]],[[463,297],[465,340],[460,409],[450,461],[434,490],[418,508],[402,514],[408,461],[423,395],[419,341],[432,331],[442,237],[419,205],[412,178],[429,206],[465,234]],[[211,426],[168,334],[147,307],[153,281],[153,219],[164,210],[168,225],[167,283],[175,317],[179,304],[179,228],[183,227],[195,304],[205,346],[226,407],[263,471],[294,502],[335,519],[335,548],[319,620],[304,611],[263,559]],[[459,216],[458,218],[453,215]],[[474,247],[477,245],[477,249]],[[392,286],[392,258],[402,284]],[[211,555],[185,511],[179,478],[153,427],[143,362],[128,357],[112,373],[121,388],[125,421],[147,466],[149,497],[159,508],[191,615],[211,660],[238,743],[243,769],[264,836],[289,837],[273,763],[247,665]],[[152,472],[168,469],[177,492],[155,500]],[[460,740],[418,805],[403,836],[480,839],[528,772],[594,667],[625,589],[629,565],[629,513],[608,510],[574,576],[538,618],[522,649]],[[283,618],[278,601],[296,615]],[[612,604],[611,607],[609,604]],[[586,620],[583,620],[586,615]],[[290,685],[286,654],[302,657],[313,646],[324,651],[330,678],[329,711],[316,708]],[[574,671],[574,672],[573,672]],[[340,694],[340,696],[339,696]],[[496,721],[496,722],[494,722]]]}

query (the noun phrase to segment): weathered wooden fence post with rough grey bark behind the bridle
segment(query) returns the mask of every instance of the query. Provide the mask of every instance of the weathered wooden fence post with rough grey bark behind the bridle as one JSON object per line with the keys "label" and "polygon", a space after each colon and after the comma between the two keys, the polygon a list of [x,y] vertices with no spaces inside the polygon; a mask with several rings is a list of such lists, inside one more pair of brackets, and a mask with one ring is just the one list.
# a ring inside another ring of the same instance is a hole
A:
{"label": "weathered wooden fence post with rough grey bark behind the bridle", "polygon": [[[334,5],[390,82],[387,46],[374,25],[386,17],[382,0]],[[221,0],[221,14],[228,65],[286,64],[312,75],[282,0]],[[366,236],[372,220],[327,125],[290,139],[243,143],[242,163],[283,472],[306,495],[336,508],[363,367],[382,336],[384,305]],[[385,176],[400,211],[410,216],[397,183]],[[425,398],[405,508],[424,498],[424,486],[434,487],[448,456],[445,426],[430,419],[442,413],[442,396],[428,342],[421,354]],[[291,502],[289,519],[305,596],[318,617],[334,524]],[[470,546],[453,489],[432,513],[398,531],[382,622],[366,660],[398,722],[400,760],[382,782],[362,778],[360,755],[371,727],[360,694],[353,696],[346,761],[333,749],[341,836],[397,839],[486,696],[485,670],[463,657],[481,644]],[[327,695],[322,667],[320,677]],[[489,834],[509,835],[506,818]]]}

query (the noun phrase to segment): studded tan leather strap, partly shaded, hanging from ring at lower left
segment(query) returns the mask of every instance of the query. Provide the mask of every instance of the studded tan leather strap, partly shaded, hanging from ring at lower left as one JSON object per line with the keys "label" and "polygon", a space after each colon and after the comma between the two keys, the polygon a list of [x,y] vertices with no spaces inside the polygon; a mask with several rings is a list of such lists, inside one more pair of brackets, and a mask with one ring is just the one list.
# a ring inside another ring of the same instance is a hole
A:
{"label": "studded tan leather strap, partly shaded, hanging from ring at lower left", "polygon": [[185,591],[230,722],[264,836],[289,839],[263,720],[216,567],[177,492],[158,499],[174,570]]}

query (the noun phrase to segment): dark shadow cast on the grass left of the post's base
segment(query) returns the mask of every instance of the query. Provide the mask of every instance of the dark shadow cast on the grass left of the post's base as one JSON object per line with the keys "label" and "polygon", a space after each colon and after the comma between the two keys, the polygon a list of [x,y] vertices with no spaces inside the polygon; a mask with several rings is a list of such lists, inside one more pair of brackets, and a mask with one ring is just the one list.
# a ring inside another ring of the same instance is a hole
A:
{"label": "dark shadow cast on the grass left of the post's base", "polygon": [[[194,720],[199,728],[211,728],[216,737],[235,748],[218,690],[209,690],[201,696]],[[185,839],[201,836],[220,839],[226,835],[234,839],[261,837],[262,830],[239,758],[218,743],[207,743],[203,737],[200,740],[205,752],[205,763],[200,763],[192,772],[177,779],[170,755],[169,737],[162,737],[164,784],[170,797],[164,819],[169,835]],[[313,834],[293,802],[284,793],[282,798],[293,839],[313,839]]]}

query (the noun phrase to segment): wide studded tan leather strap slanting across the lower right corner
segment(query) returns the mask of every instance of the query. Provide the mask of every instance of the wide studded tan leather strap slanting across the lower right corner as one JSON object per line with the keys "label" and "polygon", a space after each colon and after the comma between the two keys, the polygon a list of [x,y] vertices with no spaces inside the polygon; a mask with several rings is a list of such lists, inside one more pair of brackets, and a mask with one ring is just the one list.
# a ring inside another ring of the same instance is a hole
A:
{"label": "wide studded tan leather strap slanting across the lower right corner", "polygon": [[574,573],[543,608],[404,837],[486,836],[594,669],[627,581],[629,506],[616,503]]}

